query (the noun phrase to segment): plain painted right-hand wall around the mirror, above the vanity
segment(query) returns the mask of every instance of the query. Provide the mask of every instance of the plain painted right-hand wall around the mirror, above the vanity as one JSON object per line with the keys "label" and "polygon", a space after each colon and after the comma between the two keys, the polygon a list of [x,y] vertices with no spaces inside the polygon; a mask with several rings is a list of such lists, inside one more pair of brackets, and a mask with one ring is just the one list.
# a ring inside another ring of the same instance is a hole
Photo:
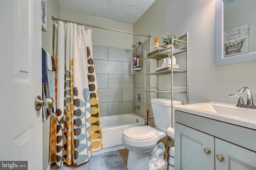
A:
{"label": "plain painted right-hand wall around the mirror, above the vanity", "polygon": [[[160,38],[168,33],[188,31],[189,103],[224,102],[236,104],[242,86],[256,93],[256,61],[215,66],[215,0],[156,0],[134,24],[134,32]],[[134,36],[134,42],[138,41]],[[153,49],[154,42],[151,42]],[[162,82],[164,84],[165,82]],[[244,94],[246,100],[246,94]]]}

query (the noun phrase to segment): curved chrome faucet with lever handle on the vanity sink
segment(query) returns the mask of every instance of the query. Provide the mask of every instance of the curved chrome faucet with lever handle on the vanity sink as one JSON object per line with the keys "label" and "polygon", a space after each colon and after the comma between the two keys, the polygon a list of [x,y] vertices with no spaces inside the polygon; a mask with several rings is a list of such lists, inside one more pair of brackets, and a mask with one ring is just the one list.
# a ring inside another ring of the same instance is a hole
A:
{"label": "curved chrome faucet with lever handle on the vanity sink", "polygon": [[238,92],[238,94],[243,94],[245,90],[247,92],[247,102],[246,102],[246,104],[244,104],[244,100],[242,98],[243,96],[237,96],[235,94],[230,94],[229,97],[232,97],[232,96],[239,97],[239,100],[238,100],[238,102],[236,104],[236,107],[243,107],[243,108],[248,108],[248,109],[256,109],[256,106],[254,106],[254,102],[253,102],[253,98],[252,98],[252,92],[251,92],[250,88],[242,87],[237,92]]}

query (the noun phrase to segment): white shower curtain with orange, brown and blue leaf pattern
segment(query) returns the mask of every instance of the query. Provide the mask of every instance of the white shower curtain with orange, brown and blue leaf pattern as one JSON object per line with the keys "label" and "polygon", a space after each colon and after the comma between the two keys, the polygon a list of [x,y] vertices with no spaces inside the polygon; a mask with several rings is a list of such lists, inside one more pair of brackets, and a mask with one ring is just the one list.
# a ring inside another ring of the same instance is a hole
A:
{"label": "white shower curtain with orange, brown and blue leaf pattern", "polygon": [[54,23],[54,59],[57,109],[51,119],[49,163],[79,165],[102,149],[91,29]]}

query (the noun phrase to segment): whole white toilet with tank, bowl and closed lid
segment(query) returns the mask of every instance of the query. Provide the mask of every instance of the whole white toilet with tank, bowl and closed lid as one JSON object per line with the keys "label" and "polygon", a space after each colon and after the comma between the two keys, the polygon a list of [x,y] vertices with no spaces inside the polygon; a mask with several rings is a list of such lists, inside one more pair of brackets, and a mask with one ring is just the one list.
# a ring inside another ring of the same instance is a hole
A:
{"label": "whole white toilet with tank, bowl and closed lid", "polygon": [[[164,151],[168,136],[166,130],[172,127],[172,101],[151,99],[156,127],[136,126],[124,130],[122,143],[129,150],[128,170],[159,170],[165,166]],[[182,102],[173,100],[173,105]]]}

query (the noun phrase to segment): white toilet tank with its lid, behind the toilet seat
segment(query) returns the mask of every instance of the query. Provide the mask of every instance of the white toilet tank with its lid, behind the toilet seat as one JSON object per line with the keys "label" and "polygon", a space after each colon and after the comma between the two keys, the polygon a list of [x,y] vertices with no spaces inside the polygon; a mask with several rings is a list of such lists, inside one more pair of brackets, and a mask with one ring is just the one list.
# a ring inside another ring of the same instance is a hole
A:
{"label": "white toilet tank with its lid, behind the toilet seat", "polygon": [[[162,131],[172,127],[172,100],[164,98],[151,99],[151,105],[155,126]],[[173,106],[177,105],[182,105],[182,102],[173,100]]]}

